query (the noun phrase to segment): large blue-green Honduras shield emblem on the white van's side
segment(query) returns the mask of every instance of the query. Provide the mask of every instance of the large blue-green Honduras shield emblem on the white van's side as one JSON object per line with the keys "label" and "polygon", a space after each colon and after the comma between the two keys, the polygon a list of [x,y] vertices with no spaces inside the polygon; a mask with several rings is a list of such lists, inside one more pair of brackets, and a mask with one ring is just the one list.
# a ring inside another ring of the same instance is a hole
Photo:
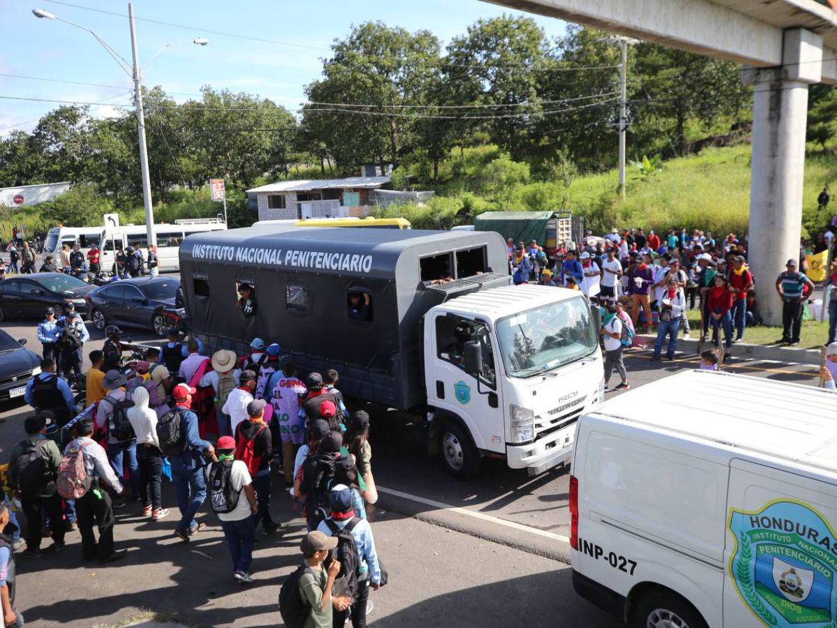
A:
{"label": "large blue-green Honduras shield emblem on the white van's side", "polygon": [[730,574],[742,601],[770,626],[832,626],[837,621],[834,531],[802,502],[760,512],[732,509],[737,548]]}

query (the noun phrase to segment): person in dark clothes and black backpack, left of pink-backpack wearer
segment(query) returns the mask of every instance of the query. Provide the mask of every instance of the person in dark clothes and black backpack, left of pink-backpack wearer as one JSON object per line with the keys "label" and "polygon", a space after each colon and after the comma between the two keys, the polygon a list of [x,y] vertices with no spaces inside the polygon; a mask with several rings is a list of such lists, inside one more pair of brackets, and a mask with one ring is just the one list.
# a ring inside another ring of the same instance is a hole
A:
{"label": "person in dark clothes and black backpack, left of pink-backpack wearer", "polygon": [[24,554],[33,559],[41,556],[42,512],[49,517],[53,538],[49,549],[55,552],[64,549],[64,517],[55,485],[61,451],[54,440],[46,437],[47,425],[51,423],[43,415],[28,416],[23,420],[26,438],[12,445],[8,455],[8,483],[20,497],[26,516]]}

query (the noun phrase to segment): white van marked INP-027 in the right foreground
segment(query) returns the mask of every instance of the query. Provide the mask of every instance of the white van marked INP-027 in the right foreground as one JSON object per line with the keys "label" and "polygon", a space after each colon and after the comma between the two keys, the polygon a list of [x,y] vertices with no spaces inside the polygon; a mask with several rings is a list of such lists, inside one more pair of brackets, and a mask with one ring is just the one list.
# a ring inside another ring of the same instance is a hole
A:
{"label": "white van marked INP-027 in the right foreground", "polygon": [[692,371],[578,423],[573,585],[632,626],[837,626],[837,394]]}

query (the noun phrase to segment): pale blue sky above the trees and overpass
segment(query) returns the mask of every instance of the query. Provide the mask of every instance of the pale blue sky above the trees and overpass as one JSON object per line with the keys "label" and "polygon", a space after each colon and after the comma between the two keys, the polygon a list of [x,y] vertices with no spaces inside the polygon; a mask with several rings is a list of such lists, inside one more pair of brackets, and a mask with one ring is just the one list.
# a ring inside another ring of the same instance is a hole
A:
{"label": "pale blue sky above the trees and overpass", "polygon": [[[35,18],[34,8],[90,28],[129,63],[127,3],[117,0],[0,0],[0,96],[102,103],[95,116],[113,116],[111,106],[131,103],[131,77],[90,34],[67,23]],[[98,13],[88,9],[120,15]],[[305,101],[304,86],[321,75],[321,59],[353,24],[378,20],[410,31],[427,29],[443,46],[479,18],[525,13],[480,0],[136,0],[137,49],[143,85],[161,85],[178,101],[198,97],[203,85],[260,95],[290,110]],[[530,16],[547,37],[566,24]],[[179,24],[176,28],[141,18]],[[271,39],[268,43],[208,30]],[[192,40],[209,39],[199,46]],[[167,46],[167,44],[172,44]],[[157,53],[161,50],[162,53]],[[155,56],[157,55],[157,56]],[[108,85],[76,85],[7,75]],[[0,98],[0,136],[31,131],[39,116],[59,103]]]}

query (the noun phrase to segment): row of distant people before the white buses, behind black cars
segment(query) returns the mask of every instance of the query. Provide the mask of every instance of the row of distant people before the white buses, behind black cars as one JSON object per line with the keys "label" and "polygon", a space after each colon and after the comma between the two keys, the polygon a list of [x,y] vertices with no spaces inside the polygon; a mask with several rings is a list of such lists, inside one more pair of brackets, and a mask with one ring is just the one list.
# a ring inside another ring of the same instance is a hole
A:
{"label": "row of distant people before the white buses, behind black cars", "polygon": [[[6,275],[31,275],[34,272],[64,272],[74,277],[83,278],[87,275],[103,275],[103,271],[114,277],[127,279],[129,277],[140,277],[159,274],[159,258],[157,257],[157,246],[146,246],[142,250],[140,243],[135,242],[126,246],[121,245],[116,249],[114,263],[110,269],[102,268],[102,255],[99,245],[93,243],[87,254],[80,249],[78,244],[62,245],[59,257],[56,260],[54,255],[43,255],[35,251],[34,247],[27,240],[12,240],[6,247],[8,264],[0,264],[0,279]],[[40,258],[43,258],[38,265]]]}

